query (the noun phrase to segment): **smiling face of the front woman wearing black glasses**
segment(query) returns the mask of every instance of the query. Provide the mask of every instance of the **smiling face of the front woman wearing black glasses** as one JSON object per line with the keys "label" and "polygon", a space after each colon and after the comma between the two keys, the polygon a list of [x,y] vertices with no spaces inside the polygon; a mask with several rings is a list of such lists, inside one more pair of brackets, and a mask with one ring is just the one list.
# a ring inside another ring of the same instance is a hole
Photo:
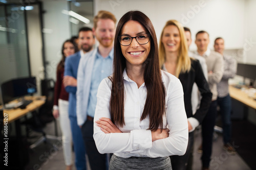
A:
{"label": "smiling face of the front woman wearing black glasses", "polygon": [[[143,35],[144,34],[144,35]],[[121,36],[123,40],[129,41],[130,37],[138,36],[138,40],[142,40],[144,38],[150,38],[146,35],[146,30],[142,27],[142,25],[138,21],[130,20],[127,21],[122,30]],[[127,36],[127,37],[124,37]],[[128,37],[130,36],[130,37]],[[140,42],[140,41],[139,41]],[[121,44],[120,44],[121,45]],[[150,41],[146,44],[139,44],[136,38],[132,39],[130,45],[123,46],[121,45],[122,54],[126,59],[126,66],[129,65],[141,65],[147,59],[148,54],[150,53]]]}

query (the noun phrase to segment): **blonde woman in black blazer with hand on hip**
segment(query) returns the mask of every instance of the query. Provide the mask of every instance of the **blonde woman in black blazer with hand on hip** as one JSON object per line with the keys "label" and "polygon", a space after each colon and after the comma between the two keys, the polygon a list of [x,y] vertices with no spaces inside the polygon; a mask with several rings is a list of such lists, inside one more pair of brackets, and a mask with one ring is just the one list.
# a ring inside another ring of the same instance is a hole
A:
{"label": "blonde woman in black blazer with hand on hip", "polygon": [[[198,60],[188,57],[187,41],[184,28],[177,20],[166,22],[159,42],[160,67],[180,79],[184,91],[184,103],[188,124],[188,146],[183,156],[170,156],[174,169],[186,169],[189,155],[193,152],[194,129],[202,123],[210,103],[212,93],[204,77]],[[197,84],[201,95],[201,104],[193,115],[191,106],[191,92],[194,83]]]}

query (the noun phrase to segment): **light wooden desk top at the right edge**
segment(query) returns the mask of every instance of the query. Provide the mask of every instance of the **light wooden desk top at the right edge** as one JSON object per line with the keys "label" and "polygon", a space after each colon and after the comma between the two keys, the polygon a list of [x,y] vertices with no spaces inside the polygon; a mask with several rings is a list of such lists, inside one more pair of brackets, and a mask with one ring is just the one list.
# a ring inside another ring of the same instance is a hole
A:
{"label": "light wooden desk top at the right edge", "polygon": [[[253,100],[252,98],[249,98],[248,94],[246,94],[244,91],[241,89],[238,89],[233,86],[229,86],[229,94],[231,98],[253,108],[256,109],[256,101]],[[254,99],[256,99],[256,96],[254,95]]]}

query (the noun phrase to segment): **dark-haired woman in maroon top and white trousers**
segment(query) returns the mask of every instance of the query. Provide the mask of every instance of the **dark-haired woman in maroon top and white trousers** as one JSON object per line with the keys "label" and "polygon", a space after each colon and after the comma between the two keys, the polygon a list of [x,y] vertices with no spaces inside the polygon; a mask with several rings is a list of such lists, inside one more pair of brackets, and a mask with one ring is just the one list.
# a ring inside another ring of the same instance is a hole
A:
{"label": "dark-haired woman in maroon top and white trousers", "polygon": [[71,40],[66,40],[61,49],[62,58],[57,66],[57,79],[54,88],[53,116],[59,117],[62,133],[63,154],[66,170],[72,169],[72,134],[69,120],[69,93],[63,86],[64,65],[66,57],[78,52],[77,46]]}

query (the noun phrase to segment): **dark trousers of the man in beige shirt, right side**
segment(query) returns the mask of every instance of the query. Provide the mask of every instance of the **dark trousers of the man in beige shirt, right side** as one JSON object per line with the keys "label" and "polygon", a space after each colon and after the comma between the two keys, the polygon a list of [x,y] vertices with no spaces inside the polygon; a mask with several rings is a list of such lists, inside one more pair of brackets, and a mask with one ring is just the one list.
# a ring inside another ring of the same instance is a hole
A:
{"label": "dark trousers of the man in beige shirt, right side", "polygon": [[202,146],[203,154],[201,157],[203,167],[209,167],[210,156],[212,151],[212,137],[214,135],[214,126],[217,115],[217,100],[212,101],[208,112],[202,122]]}

